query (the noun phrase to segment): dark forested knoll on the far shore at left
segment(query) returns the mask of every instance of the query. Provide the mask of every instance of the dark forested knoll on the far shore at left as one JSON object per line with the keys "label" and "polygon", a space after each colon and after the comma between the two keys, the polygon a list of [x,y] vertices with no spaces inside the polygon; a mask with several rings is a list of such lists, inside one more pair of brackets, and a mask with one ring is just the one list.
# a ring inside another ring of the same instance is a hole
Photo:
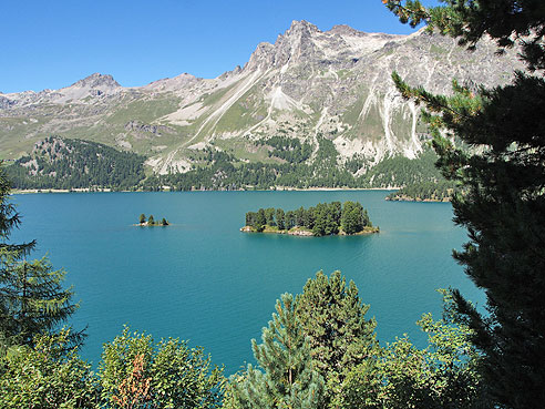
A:
{"label": "dark forested knoll on the far shore at left", "polygon": [[7,166],[14,188],[136,188],[144,156],[104,144],[50,136],[32,153]]}

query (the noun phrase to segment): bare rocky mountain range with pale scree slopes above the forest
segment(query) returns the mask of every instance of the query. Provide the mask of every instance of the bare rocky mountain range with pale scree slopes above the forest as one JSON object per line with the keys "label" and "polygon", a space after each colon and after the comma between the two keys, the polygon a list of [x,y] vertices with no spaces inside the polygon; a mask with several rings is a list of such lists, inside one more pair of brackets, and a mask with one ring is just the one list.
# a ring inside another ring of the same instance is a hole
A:
{"label": "bare rocky mountain range with pale scree slopes above the forest", "polygon": [[54,134],[145,155],[156,174],[167,174],[205,166],[203,150],[210,149],[241,163],[286,163],[267,143],[276,136],[309,145],[308,164],[319,157],[320,141],[331,141],[337,166],[363,175],[391,157],[419,157],[428,137],[392,71],[440,93],[450,92],[453,78],[504,84],[524,67],[516,50],[495,51],[487,39],[467,52],[422,30],[320,31],[294,21],[274,44],[258,44],[243,68],[216,79],[184,73],[123,88],[95,73],[61,90],[0,94],[0,155],[18,159]]}

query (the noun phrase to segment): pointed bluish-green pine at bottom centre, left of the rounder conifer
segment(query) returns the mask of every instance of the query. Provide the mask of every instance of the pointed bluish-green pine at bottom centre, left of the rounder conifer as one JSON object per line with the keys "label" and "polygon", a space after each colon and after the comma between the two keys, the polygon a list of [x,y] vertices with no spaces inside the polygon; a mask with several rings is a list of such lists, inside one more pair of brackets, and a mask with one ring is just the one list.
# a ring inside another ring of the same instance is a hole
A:
{"label": "pointed bluish-green pine at bottom centre, left of the rounder conifer", "polygon": [[322,401],[323,379],[313,369],[292,295],[284,294],[268,328],[263,329],[263,344],[251,341],[264,371],[248,365],[245,375],[233,380],[232,405],[245,409],[316,409]]}

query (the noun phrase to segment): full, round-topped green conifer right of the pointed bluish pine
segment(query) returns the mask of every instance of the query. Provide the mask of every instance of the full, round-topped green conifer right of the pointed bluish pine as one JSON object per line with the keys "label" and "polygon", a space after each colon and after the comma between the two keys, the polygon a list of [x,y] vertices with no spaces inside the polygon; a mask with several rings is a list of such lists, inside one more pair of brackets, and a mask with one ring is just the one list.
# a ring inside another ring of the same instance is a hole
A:
{"label": "full, round-topped green conifer right of the pointed bluish pine", "polygon": [[318,272],[296,298],[296,315],[308,337],[316,369],[326,379],[326,403],[339,392],[347,374],[378,346],[374,319],[366,319],[368,305],[361,303],[353,282],[347,286],[340,272],[328,278]]}

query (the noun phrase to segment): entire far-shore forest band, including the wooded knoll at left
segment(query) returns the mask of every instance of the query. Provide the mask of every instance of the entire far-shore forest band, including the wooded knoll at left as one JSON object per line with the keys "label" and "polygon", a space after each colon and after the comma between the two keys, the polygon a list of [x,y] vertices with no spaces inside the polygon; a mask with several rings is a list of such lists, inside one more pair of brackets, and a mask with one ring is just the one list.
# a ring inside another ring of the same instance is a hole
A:
{"label": "entire far-shore forest band, including the wooded knoll at left", "polygon": [[318,150],[297,139],[272,136],[266,144],[272,163],[244,162],[213,147],[194,152],[186,173],[150,175],[144,156],[82,140],[50,136],[38,142],[30,155],[7,166],[14,188],[110,188],[161,191],[234,191],[310,187],[391,187],[443,181],[434,163],[438,156],[424,151],[420,157],[385,157],[370,167],[359,156],[342,163],[333,143],[318,139]]}

